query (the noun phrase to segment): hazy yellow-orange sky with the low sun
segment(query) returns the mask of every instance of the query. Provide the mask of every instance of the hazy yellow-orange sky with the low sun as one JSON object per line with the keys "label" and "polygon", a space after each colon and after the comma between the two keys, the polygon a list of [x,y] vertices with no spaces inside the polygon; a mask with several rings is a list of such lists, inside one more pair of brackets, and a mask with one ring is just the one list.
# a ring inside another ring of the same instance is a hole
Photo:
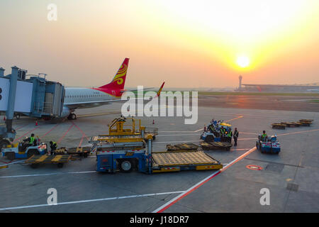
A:
{"label": "hazy yellow-orange sky with the low sun", "polygon": [[127,87],[319,82],[318,0],[1,0],[0,28],[6,74],[67,86],[106,84],[125,57]]}

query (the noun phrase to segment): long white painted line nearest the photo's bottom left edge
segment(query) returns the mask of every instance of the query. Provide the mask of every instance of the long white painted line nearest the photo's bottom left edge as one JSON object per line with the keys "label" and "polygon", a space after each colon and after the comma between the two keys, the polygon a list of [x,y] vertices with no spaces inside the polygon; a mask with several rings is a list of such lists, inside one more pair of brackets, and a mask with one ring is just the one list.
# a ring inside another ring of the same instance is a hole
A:
{"label": "long white painted line nearest the photo's bottom left edge", "polygon": [[58,206],[58,205],[65,205],[65,204],[81,204],[81,203],[89,203],[94,201],[107,201],[107,200],[114,200],[114,199],[130,199],[130,198],[138,198],[138,197],[147,197],[147,196],[159,196],[162,194],[180,194],[184,191],[179,192],[159,192],[153,194],[135,194],[131,196],[118,196],[118,197],[110,197],[110,198],[103,198],[103,199],[88,199],[88,200],[79,200],[79,201],[65,201],[62,203],[57,203],[56,205],[49,205],[49,204],[38,204],[38,205],[30,205],[30,206],[13,206],[13,207],[6,207],[0,208],[0,211],[6,210],[13,210],[13,209],[26,209],[26,208],[34,208],[34,207],[42,207],[42,206]]}

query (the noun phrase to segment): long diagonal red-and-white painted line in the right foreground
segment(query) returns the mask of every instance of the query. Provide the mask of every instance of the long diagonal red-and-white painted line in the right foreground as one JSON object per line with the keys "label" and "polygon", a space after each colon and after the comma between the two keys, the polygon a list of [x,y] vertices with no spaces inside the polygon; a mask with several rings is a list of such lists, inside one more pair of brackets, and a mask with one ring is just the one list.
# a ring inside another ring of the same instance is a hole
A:
{"label": "long diagonal red-and-white painted line in the right foreground", "polygon": [[250,153],[254,152],[254,150],[256,150],[257,148],[254,147],[250,150],[247,151],[247,153],[244,153],[242,155],[240,155],[240,157],[237,157],[235,160],[233,160],[233,162],[230,162],[228,165],[226,165],[225,167],[223,167],[223,169],[218,170],[218,172],[214,173],[211,176],[208,176],[208,178],[203,179],[202,182],[198,182],[197,184],[195,184],[193,187],[189,188],[188,190],[186,190],[184,193],[180,194],[179,196],[175,197],[174,199],[170,200],[167,204],[164,204],[163,206],[159,207],[159,209],[153,211],[156,213],[162,213],[163,211],[165,211],[166,209],[168,209],[170,206],[172,206],[173,204],[176,204],[177,201],[183,199],[185,196],[191,194],[191,192],[194,192],[196,189],[198,189],[199,187],[201,187],[203,184],[206,184],[208,181],[210,181],[211,179],[213,179],[214,177],[216,177],[217,175],[219,175],[220,173],[224,172],[225,170],[227,170],[229,167],[231,167],[232,165],[234,165],[236,162],[239,162],[240,160],[242,160],[244,157],[246,157],[247,155],[249,155]]}

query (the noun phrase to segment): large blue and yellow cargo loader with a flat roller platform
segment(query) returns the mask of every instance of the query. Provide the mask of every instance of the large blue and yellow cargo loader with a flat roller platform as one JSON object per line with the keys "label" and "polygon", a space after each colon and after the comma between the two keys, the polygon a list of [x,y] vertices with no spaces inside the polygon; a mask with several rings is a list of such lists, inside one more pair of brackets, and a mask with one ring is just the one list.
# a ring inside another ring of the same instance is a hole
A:
{"label": "large blue and yellow cargo loader with a flat roller platform", "polygon": [[[124,124],[128,119],[132,120],[131,125]],[[109,126],[108,135],[91,138],[91,153],[96,153],[96,171],[116,172],[119,169],[121,172],[131,172],[137,169],[139,172],[152,174],[223,168],[220,162],[201,150],[153,152],[152,135],[145,135],[149,128],[140,126],[136,130],[135,125],[133,118],[116,118]]]}

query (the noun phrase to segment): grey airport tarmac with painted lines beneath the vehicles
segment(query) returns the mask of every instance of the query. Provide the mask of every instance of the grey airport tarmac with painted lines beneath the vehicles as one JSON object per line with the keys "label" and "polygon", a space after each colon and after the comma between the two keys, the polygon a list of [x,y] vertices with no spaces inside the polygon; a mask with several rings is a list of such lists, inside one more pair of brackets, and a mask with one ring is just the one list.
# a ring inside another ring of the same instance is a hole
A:
{"label": "grey airport tarmac with painted lines beneath the vehicles", "polygon": [[[223,119],[240,132],[237,147],[207,151],[223,163],[220,171],[184,171],[145,175],[96,172],[96,157],[68,162],[59,169],[43,165],[32,169],[13,160],[0,169],[0,212],[318,212],[319,211],[319,113],[291,110],[213,106],[213,97],[198,106],[198,122],[185,125],[184,117],[142,117],[142,126],[158,127],[153,150],[167,144],[200,143],[203,126],[212,118]],[[239,102],[240,99],[233,102]],[[259,100],[262,105],[262,100]],[[316,104],[318,106],[318,104]],[[227,108],[225,108],[227,107]],[[237,106],[236,106],[237,107]],[[286,107],[285,107],[286,108]],[[88,145],[93,135],[108,133],[107,124],[121,114],[121,104],[79,109],[74,121],[38,121],[22,117],[13,122],[16,140],[35,133],[48,143],[75,147]],[[277,121],[313,119],[310,127],[272,129]],[[152,121],[155,124],[152,124]],[[276,134],[279,155],[262,154],[254,148],[263,130]],[[9,160],[1,157],[0,165]],[[260,167],[249,169],[248,165]],[[57,190],[57,205],[48,205]],[[262,205],[262,189],[269,190],[269,205]]]}

